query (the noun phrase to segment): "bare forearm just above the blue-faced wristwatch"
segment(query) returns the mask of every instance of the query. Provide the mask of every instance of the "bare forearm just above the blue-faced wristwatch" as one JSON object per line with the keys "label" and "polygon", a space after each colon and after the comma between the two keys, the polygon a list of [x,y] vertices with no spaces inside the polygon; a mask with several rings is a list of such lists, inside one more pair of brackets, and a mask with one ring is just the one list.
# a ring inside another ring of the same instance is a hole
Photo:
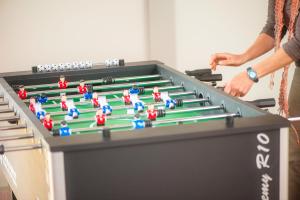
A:
{"label": "bare forearm just above the blue-faced wristwatch", "polygon": [[275,54],[253,66],[258,78],[262,78],[286,65],[289,65],[294,60],[280,48]]}

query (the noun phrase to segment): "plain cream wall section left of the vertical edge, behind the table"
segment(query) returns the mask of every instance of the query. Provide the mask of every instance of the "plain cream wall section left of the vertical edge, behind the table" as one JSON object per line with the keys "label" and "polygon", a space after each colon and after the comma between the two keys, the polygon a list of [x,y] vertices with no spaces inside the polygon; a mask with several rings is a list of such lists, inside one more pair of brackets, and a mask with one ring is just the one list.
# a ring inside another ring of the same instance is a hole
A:
{"label": "plain cream wall section left of the vertical edge, behind the table", "polygon": [[145,4],[145,0],[1,0],[0,72],[76,60],[147,60]]}

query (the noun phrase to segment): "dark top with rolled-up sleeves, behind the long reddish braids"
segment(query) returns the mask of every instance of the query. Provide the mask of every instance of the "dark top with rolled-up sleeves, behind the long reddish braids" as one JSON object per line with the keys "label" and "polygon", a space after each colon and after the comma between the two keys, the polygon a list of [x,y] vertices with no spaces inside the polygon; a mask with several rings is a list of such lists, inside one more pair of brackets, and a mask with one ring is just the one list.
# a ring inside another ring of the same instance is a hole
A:
{"label": "dark top with rolled-up sleeves, behind the long reddish braids", "polygon": [[[284,7],[284,28],[283,28],[283,35],[284,36],[287,32],[287,27],[290,21],[290,6],[291,0],[286,0],[285,7]],[[275,38],[275,0],[269,0],[268,6],[268,19],[265,27],[262,30],[262,33],[266,33],[269,36]],[[299,16],[299,14],[298,14]],[[294,37],[288,41],[287,43],[283,44],[283,49],[285,52],[295,61],[296,66],[300,67],[300,19],[297,16],[295,20],[295,35]]]}

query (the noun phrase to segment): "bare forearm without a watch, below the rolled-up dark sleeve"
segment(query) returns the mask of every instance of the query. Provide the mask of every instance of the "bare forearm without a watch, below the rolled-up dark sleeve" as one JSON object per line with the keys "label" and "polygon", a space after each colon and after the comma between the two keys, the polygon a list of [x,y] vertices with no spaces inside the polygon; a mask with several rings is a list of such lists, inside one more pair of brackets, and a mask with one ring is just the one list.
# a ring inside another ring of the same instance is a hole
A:
{"label": "bare forearm without a watch, below the rolled-up dark sleeve", "polygon": [[274,38],[262,33],[255,42],[243,53],[245,63],[251,61],[274,48]]}

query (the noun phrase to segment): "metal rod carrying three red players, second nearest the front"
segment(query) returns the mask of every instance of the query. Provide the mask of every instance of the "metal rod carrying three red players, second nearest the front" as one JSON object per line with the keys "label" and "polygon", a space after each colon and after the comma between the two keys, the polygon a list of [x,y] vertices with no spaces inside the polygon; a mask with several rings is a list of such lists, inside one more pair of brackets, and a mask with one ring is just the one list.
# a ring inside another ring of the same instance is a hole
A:
{"label": "metal rod carrying three red players, second nearest the front", "polygon": [[[218,110],[223,109],[223,106],[203,106],[203,107],[195,107],[195,108],[184,108],[184,109],[176,109],[176,110],[168,110],[166,111],[166,115],[171,114],[178,114],[178,113],[187,113],[187,112],[196,112],[196,111],[208,111],[208,110]],[[106,119],[123,119],[123,118],[129,118],[133,117],[135,114],[129,114],[129,115],[112,115],[107,116]],[[147,116],[146,113],[140,113],[141,117]],[[76,123],[82,123],[82,122],[92,122],[95,121],[95,118],[83,118],[83,119],[75,119],[68,122],[68,124],[76,124]],[[54,121],[54,124],[59,124],[60,121],[56,120]]]}

